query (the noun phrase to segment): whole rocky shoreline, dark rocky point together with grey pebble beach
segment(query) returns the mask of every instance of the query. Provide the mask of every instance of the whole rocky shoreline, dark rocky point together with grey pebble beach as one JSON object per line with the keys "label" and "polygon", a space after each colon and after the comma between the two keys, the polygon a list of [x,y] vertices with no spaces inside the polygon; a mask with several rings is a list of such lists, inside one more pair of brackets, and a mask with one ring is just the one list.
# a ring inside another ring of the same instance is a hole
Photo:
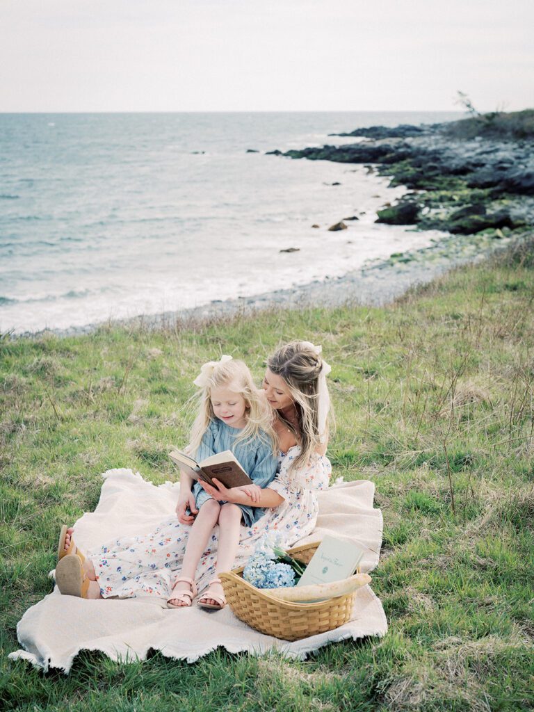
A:
{"label": "whole rocky shoreline, dark rocky point together with grey pebble beach", "polygon": [[[365,164],[368,172],[390,177],[390,185],[409,189],[397,204],[386,204],[378,211],[377,222],[437,229],[444,231],[444,236],[433,246],[394,253],[385,261],[367,263],[339,278],[180,311],[113,320],[112,325],[150,330],[251,315],[273,308],[335,307],[347,303],[384,305],[412,286],[428,283],[455,266],[477,261],[519,241],[530,234],[534,225],[534,111],[520,113],[528,114],[529,121],[532,119],[532,131],[530,128],[523,131],[524,122],[514,121],[515,134],[512,131],[509,135],[508,119],[506,130],[498,130],[494,123],[483,119],[419,127],[375,126],[340,134],[359,138],[360,142],[355,144],[268,152],[292,159]],[[331,229],[344,226],[340,219]],[[80,335],[107,324],[94,323],[53,333]],[[14,337],[39,337],[44,333]]]}

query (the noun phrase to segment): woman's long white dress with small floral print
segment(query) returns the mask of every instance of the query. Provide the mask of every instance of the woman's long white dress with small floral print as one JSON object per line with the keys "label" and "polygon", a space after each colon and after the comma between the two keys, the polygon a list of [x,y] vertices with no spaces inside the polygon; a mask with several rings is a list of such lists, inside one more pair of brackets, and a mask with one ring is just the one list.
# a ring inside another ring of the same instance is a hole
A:
{"label": "woman's long white dress with small floral print", "polygon": [[[319,511],[317,493],[328,488],[332,467],[327,457],[314,455],[307,468],[290,473],[290,465],[299,453],[300,448],[295,445],[286,454],[278,455],[278,473],[268,488],[278,492],[284,501],[276,508],[266,509],[251,527],[241,525],[235,567],[246,563],[266,531],[281,533],[286,547],[295,545],[313,531]],[[155,596],[167,600],[182,566],[190,531],[191,526],[179,523],[173,515],[150,534],[112,540],[88,552],[103,597]],[[199,591],[215,577],[218,538],[219,525],[216,525],[197,566],[195,578]]]}

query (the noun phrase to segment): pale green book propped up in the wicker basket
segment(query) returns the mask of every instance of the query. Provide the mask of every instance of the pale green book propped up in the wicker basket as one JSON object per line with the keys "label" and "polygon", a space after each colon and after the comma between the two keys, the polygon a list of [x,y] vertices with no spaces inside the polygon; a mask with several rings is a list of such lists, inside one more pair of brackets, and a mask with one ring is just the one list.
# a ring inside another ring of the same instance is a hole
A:
{"label": "pale green book propped up in the wicker basket", "polygon": [[297,586],[332,583],[352,576],[362,560],[363,550],[352,541],[325,536]]}

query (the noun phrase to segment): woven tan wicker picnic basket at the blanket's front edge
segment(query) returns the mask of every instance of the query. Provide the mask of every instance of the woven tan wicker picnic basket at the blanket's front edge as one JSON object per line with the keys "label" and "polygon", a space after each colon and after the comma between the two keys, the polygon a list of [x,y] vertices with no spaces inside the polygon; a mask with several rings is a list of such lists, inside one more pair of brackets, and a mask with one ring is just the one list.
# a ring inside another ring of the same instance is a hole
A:
{"label": "woven tan wicker picnic basket at the blanket's front edge", "polygon": [[[307,564],[320,542],[295,546],[287,553]],[[300,640],[324,633],[350,620],[356,591],[320,603],[276,600],[243,579],[244,567],[219,576],[234,614],[261,633],[283,640]]]}

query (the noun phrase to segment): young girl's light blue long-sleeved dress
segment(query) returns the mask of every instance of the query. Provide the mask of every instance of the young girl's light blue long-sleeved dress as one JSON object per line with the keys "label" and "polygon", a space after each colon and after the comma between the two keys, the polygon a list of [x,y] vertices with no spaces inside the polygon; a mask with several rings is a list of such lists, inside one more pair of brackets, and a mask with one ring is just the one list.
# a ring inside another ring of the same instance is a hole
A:
{"label": "young girl's light blue long-sleeved dress", "polygon": [[[222,420],[212,420],[202,437],[195,459],[201,462],[210,455],[231,450],[253,483],[261,488],[267,487],[276,475],[277,461],[273,448],[267,438],[239,441],[237,438],[240,432]],[[206,500],[211,499],[211,495],[202,489],[198,482],[194,483],[193,494],[198,509]],[[248,507],[245,504],[237,506],[243,513],[243,523],[246,527],[251,527],[265,514],[265,509],[261,507]]]}

